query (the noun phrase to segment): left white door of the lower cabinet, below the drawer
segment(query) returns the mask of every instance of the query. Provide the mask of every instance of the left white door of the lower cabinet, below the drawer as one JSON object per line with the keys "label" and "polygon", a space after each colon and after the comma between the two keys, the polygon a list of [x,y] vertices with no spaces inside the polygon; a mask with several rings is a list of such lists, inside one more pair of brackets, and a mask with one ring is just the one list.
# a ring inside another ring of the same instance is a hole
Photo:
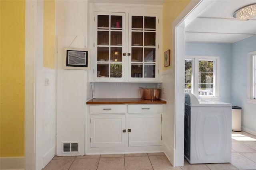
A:
{"label": "left white door of the lower cabinet, below the drawer", "polygon": [[124,147],[125,115],[92,115],[91,147]]}

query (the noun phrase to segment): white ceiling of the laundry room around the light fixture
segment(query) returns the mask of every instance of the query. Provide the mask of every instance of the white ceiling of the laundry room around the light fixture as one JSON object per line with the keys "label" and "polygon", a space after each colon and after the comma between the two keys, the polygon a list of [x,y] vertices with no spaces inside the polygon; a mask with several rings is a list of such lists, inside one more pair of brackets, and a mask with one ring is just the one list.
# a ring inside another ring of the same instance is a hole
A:
{"label": "white ceiling of the laundry room around the light fixture", "polygon": [[186,26],[186,42],[234,43],[256,35],[256,18],[239,21],[233,14],[256,0],[212,0],[212,3]]}

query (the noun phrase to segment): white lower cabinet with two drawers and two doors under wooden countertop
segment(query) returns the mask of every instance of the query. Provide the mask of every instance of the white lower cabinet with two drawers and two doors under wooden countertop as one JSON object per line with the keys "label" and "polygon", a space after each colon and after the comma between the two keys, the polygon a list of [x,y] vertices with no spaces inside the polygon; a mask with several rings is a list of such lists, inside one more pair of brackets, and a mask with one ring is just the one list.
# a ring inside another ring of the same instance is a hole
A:
{"label": "white lower cabinet with two drawers and two doors under wooden countertop", "polygon": [[162,151],[163,105],[90,105],[87,153]]}

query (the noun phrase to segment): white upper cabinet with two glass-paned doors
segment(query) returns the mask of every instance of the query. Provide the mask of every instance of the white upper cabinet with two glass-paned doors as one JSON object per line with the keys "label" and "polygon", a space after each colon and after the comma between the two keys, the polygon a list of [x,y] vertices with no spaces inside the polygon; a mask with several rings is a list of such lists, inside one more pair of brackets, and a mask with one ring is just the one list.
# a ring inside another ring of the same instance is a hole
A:
{"label": "white upper cabinet with two glass-paned doors", "polygon": [[122,10],[121,5],[118,8],[96,6],[91,12],[94,68],[90,81],[161,82],[158,75],[162,68],[159,66],[162,10],[152,13],[152,7],[143,10],[123,7]]}

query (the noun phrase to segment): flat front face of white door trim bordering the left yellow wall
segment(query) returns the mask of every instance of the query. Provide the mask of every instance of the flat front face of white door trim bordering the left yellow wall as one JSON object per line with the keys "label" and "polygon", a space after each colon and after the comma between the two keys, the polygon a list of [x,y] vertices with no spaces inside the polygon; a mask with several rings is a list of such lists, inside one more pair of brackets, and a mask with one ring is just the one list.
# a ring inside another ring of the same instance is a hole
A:
{"label": "flat front face of white door trim bordering the left yellow wall", "polygon": [[25,169],[35,169],[35,24],[36,1],[25,12]]}

